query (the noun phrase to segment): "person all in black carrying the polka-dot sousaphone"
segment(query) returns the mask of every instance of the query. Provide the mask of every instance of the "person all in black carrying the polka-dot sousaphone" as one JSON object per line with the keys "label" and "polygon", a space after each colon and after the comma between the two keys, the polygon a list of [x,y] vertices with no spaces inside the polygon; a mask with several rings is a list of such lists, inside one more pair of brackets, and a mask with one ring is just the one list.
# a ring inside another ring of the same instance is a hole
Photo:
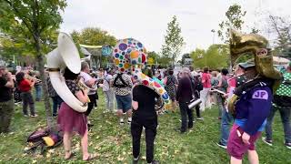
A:
{"label": "person all in black carrying the polka-dot sousaphone", "polygon": [[140,138],[143,127],[146,128],[146,161],[147,163],[158,163],[154,160],[154,140],[157,127],[155,102],[158,97],[159,95],[149,87],[136,85],[133,89],[132,106],[134,110],[131,134],[133,138],[134,163],[137,163],[140,157]]}

